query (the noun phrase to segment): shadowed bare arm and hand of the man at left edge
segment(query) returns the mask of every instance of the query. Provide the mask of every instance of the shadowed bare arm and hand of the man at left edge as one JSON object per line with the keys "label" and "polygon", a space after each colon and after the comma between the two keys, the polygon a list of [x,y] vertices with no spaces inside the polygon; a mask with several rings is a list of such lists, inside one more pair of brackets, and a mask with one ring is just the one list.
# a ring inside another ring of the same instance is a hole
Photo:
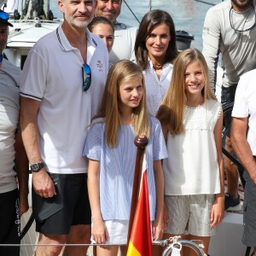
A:
{"label": "shadowed bare arm and hand of the man at left edge", "polygon": [[28,160],[22,143],[20,128],[15,134],[15,167],[18,175],[20,194],[20,216],[28,210]]}

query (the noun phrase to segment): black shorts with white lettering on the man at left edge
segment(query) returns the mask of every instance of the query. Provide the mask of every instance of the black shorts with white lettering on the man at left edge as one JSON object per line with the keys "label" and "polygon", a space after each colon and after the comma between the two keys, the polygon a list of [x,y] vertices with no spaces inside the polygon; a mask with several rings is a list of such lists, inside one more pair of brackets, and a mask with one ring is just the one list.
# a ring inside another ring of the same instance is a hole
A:
{"label": "black shorts with white lettering on the man at left edge", "polygon": [[[20,244],[20,201],[18,189],[0,194],[0,243]],[[20,247],[0,247],[0,255],[20,255]]]}

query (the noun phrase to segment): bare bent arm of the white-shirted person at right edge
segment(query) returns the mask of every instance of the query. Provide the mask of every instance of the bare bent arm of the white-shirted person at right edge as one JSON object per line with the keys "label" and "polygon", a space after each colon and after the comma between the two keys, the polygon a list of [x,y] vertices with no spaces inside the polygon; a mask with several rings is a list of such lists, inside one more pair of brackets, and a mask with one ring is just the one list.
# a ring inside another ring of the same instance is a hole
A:
{"label": "bare bent arm of the white-shirted person at right edge", "polygon": [[256,183],[256,162],[250,145],[247,143],[247,118],[232,119],[231,143],[241,164],[247,170],[249,176]]}

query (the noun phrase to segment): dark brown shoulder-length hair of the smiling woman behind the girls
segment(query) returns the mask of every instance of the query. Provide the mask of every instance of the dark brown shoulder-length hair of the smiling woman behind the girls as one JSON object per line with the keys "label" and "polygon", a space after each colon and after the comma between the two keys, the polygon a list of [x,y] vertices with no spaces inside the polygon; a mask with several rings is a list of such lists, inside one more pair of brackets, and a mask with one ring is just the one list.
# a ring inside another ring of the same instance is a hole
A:
{"label": "dark brown shoulder-length hair of the smiling woman behind the girls", "polygon": [[171,41],[169,42],[168,48],[166,49],[166,55],[163,64],[166,64],[166,62],[174,61],[177,56],[175,26],[171,15],[166,13],[164,10],[151,10],[143,16],[143,20],[141,21],[137,31],[137,38],[134,46],[137,64],[142,67],[143,70],[148,67],[148,49],[146,48],[146,39],[148,38],[148,35],[154,30],[154,28],[162,23],[169,26],[171,35]]}

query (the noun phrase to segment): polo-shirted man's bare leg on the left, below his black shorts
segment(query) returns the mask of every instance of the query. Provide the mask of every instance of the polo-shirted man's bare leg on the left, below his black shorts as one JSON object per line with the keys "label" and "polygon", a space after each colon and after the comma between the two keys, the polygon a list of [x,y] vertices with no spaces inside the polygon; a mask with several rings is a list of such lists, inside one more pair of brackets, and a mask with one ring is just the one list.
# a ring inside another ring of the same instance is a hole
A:
{"label": "polo-shirted man's bare leg on the left, below his black shorts", "polygon": [[66,243],[66,235],[44,235],[40,234],[36,256],[57,256],[61,253],[63,246],[40,246],[40,244],[64,244]]}

